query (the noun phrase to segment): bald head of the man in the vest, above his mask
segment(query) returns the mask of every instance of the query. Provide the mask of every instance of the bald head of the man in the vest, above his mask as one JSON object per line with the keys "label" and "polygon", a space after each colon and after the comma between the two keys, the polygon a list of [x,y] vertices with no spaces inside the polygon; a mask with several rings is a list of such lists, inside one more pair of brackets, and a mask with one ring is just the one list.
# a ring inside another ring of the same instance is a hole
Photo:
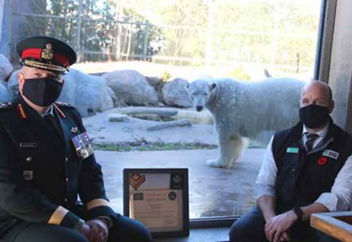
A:
{"label": "bald head of the man in the vest, above his mask", "polygon": [[313,80],[303,87],[300,100],[301,107],[312,104],[327,107],[329,112],[332,112],[334,101],[332,100],[332,92],[328,84]]}

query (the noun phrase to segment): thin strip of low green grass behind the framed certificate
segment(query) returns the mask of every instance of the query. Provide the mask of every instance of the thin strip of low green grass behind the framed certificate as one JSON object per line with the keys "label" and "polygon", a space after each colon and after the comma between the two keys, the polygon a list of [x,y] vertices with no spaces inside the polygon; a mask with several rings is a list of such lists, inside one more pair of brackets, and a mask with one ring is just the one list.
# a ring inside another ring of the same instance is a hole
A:
{"label": "thin strip of low green grass behind the framed certificate", "polygon": [[164,142],[126,142],[93,144],[93,149],[102,151],[174,151],[174,150],[210,150],[217,146],[202,143],[164,143]]}

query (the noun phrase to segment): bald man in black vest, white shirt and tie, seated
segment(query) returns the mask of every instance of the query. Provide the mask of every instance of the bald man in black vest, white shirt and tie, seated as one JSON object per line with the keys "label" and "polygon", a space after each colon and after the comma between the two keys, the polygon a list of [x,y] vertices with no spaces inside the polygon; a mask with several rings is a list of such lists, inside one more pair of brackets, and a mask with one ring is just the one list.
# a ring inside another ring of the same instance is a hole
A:
{"label": "bald man in black vest, white shirt and tie, seated", "polygon": [[352,136],[329,116],[326,83],[307,84],[300,106],[300,122],[270,141],[255,183],[257,207],[232,225],[231,241],[336,241],[309,221],[312,213],[348,210]]}

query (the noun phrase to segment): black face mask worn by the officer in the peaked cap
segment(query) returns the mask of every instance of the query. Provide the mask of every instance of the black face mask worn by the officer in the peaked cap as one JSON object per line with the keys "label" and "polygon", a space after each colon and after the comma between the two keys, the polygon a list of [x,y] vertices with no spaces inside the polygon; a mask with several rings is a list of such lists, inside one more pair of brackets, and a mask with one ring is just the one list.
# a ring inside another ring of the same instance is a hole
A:
{"label": "black face mask worn by the officer in the peaked cap", "polygon": [[52,78],[25,79],[23,95],[33,104],[47,107],[53,104],[60,96],[63,82]]}

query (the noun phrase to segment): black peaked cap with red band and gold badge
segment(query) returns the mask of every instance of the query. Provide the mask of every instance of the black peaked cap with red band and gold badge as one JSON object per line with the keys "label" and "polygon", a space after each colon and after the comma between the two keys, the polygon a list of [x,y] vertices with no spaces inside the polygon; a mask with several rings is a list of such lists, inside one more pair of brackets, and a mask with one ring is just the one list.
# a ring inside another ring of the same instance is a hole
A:
{"label": "black peaked cap with red band and gold badge", "polygon": [[65,42],[48,36],[33,36],[16,45],[21,64],[39,69],[66,73],[76,62],[75,51]]}

